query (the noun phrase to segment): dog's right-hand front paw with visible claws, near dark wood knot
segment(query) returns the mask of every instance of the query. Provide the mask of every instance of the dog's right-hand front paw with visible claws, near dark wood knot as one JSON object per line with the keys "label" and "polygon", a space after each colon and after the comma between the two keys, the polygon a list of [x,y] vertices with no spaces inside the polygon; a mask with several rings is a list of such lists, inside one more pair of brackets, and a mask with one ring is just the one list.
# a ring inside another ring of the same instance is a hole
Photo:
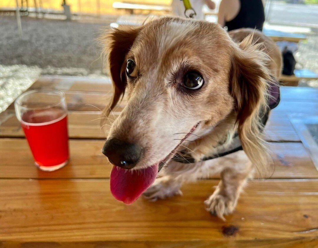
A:
{"label": "dog's right-hand front paw with visible claws, near dark wood knot", "polygon": [[218,186],[214,193],[204,201],[204,205],[207,211],[225,221],[224,215],[233,213],[236,202],[231,197],[221,194]]}

